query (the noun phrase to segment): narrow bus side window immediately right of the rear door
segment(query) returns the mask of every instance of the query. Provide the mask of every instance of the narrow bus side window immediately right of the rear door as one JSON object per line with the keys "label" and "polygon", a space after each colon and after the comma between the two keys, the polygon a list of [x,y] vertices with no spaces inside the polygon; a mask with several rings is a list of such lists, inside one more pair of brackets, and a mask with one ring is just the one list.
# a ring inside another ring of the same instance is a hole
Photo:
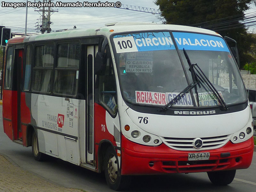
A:
{"label": "narrow bus side window immediately right of the rear door", "polygon": [[30,88],[30,74],[32,64],[32,44],[29,44],[26,48],[26,63],[25,63],[25,75],[23,90],[28,91]]}

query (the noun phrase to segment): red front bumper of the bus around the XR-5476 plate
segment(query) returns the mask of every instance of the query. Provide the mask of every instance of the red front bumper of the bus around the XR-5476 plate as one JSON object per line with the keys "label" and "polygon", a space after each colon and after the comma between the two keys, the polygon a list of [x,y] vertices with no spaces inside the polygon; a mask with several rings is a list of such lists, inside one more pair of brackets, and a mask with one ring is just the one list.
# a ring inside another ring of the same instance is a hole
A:
{"label": "red front bumper of the bus around the XR-5476 plate", "polygon": [[[167,147],[144,146],[129,141],[122,135],[122,175],[148,175],[164,173],[209,172],[232,169],[246,169],[250,166],[253,156],[253,137],[242,143],[230,141],[219,149],[196,152],[210,152],[209,160],[188,161],[188,153]],[[221,157],[223,153],[228,157]]]}

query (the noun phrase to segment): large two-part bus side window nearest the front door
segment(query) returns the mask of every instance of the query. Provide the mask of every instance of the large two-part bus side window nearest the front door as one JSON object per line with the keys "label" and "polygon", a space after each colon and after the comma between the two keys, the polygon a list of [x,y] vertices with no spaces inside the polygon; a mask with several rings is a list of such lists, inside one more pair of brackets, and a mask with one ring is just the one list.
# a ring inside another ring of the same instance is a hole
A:
{"label": "large two-part bus side window nearest the front door", "polygon": [[54,89],[57,94],[76,95],[78,87],[78,69],[80,44],[58,45],[57,68],[55,68]]}

